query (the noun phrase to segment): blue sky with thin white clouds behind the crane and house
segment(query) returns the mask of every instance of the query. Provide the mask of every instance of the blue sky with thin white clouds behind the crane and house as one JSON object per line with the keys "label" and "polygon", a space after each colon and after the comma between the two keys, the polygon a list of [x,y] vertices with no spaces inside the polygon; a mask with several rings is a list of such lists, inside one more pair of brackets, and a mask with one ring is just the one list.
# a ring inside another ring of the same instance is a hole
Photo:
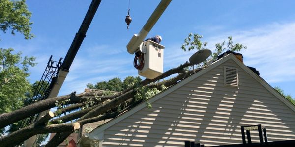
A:
{"label": "blue sky with thin white clouds behind the crane and house", "polygon": [[[126,45],[160,0],[130,0],[132,22],[127,30],[128,1],[102,0],[59,95],[84,92],[87,83],[138,75],[134,55],[127,52]],[[38,65],[30,68],[33,83],[40,80],[50,55],[56,61],[65,57],[91,0],[26,3],[32,12],[35,37],[25,40],[21,34],[0,32],[0,47],[37,58]],[[215,43],[232,36],[234,43],[248,47],[240,52],[245,65],[256,68],[271,86],[279,86],[295,98],[294,5],[295,0],[172,0],[148,37],[162,36],[166,71],[195,53],[180,49],[189,33],[203,35],[202,41],[207,41],[211,50]]]}

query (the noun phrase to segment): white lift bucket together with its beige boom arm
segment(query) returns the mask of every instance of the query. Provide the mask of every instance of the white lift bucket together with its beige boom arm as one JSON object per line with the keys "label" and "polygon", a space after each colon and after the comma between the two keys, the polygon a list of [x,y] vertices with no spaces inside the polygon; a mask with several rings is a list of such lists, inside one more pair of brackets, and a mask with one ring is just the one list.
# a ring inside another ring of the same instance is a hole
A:
{"label": "white lift bucket together with its beige boom arm", "polygon": [[[142,63],[143,65],[142,67],[137,68],[138,73],[139,75],[144,76],[148,79],[153,79],[163,73],[163,58],[165,47],[153,41],[143,41],[171,1],[172,0],[161,0],[161,2],[153,11],[147,23],[141,29],[139,34],[134,34],[126,46],[127,51],[130,54],[134,54],[136,52],[136,56],[140,56],[140,58],[138,58],[138,62]],[[141,55],[139,55],[138,53],[140,53]]]}

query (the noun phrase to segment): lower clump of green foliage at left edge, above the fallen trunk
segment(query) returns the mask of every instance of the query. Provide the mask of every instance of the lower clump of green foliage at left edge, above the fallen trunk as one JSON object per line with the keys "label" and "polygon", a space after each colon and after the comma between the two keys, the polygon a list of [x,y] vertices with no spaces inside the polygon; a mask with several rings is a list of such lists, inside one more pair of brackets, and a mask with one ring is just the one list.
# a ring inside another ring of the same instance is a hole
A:
{"label": "lower clump of green foliage at left edge, above the fallen trunk", "polygon": [[20,108],[30,91],[27,77],[29,67],[35,65],[35,58],[22,58],[21,54],[14,54],[12,48],[0,48],[0,113]]}

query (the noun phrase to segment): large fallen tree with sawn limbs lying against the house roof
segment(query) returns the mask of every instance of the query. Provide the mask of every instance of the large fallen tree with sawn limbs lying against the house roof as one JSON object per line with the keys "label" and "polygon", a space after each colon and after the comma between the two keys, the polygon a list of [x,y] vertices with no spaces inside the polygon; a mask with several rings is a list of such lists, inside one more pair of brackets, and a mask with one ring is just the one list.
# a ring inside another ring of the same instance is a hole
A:
{"label": "large fallen tree with sawn limbs lying against the house roof", "polygon": [[[114,118],[140,102],[147,100],[148,98],[135,98],[139,92],[143,93],[143,89],[160,92],[164,90],[163,86],[170,87],[191,75],[193,71],[185,70],[185,68],[191,65],[190,63],[184,63],[177,68],[166,71],[155,79],[145,79],[122,92],[109,92],[109,95],[104,95],[105,91],[99,90],[87,90],[81,94],[73,92],[65,96],[48,98],[10,113],[0,114],[0,128],[3,128],[42,111],[59,107],[56,112],[46,117],[44,116],[40,121],[1,137],[0,147],[19,145],[36,134],[57,133],[46,145],[46,147],[56,147],[76,129],[79,129],[81,125]],[[177,75],[168,80],[159,81],[173,74]],[[66,101],[66,105],[64,101]],[[91,103],[90,106],[89,103]],[[119,107],[122,103],[125,103],[124,109],[117,111],[116,107]],[[88,107],[85,108],[85,106]],[[71,112],[73,110],[76,111]],[[62,113],[65,115],[52,119],[54,116],[59,116]],[[71,123],[67,123],[70,121]]]}

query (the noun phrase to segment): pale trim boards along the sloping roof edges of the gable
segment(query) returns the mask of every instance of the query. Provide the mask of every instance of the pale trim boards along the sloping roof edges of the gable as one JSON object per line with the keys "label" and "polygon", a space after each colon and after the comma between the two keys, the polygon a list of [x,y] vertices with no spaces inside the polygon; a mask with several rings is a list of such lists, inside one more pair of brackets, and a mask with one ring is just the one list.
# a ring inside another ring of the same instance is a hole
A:
{"label": "pale trim boards along the sloping roof edges of the gable", "polygon": [[[188,82],[194,80],[195,78],[207,73],[208,71],[214,69],[215,67],[225,63],[228,60],[233,60],[238,66],[240,66],[246,73],[248,73],[251,77],[253,77],[256,81],[258,81],[262,86],[264,86],[271,94],[273,94],[275,97],[277,97],[279,100],[281,100],[284,104],[286,104],[291,110],[295,112],[295,106],[284,96],[282,96],[280,93],[278,93],[274,88],[272,88],[263,78],[258,76],[256,73],[254,73],[251,69],[249,69],[247,66],[245,66],[241,61],[239,61],[235,55],[233,54],[228,54],[225,57],[215,61],[212,63],[210,66],[207,68],[204,68],[203,70],[192,74],[191,76],[183,79],[176,85],[166,89],[165,91],[162,91],[161,93],[155,95],[154,97],[148,99],[149,103],[153,103],[154,101],[163,98],[164,96],[170,94],[171,92],[177,90],[181,86],[187,84]],[[132,108],[131,110],[121,114],[117,118],[114,118],[113,120],[109,121],[108,123],[105,123],[101,125],[100,127],[92,130],[89,134],[86,134],[85,136],[82,136],[81,140],[79,140],[79,143],[82,142],[82,140],[101,140],[103,139],[103,131],[106,130],[107,128],[113,126],[114,124],[122,121],[123,119],[131,116],[132,114],[136,113],[137,111],[143,109],[146,107],[146,104],[143,102],[139,104],[138,106]]]}

